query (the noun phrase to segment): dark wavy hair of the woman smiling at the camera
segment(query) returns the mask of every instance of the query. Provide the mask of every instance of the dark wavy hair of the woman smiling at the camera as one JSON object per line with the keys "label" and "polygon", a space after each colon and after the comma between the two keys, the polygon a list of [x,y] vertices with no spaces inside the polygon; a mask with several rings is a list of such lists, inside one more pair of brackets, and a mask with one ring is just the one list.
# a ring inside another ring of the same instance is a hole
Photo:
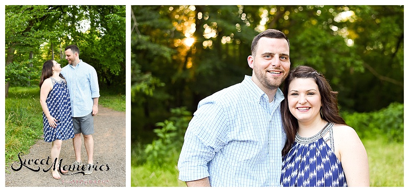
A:
{"label": "dark wavy hair of the woman smiling at the camera", "polygon": [[296,78],[315,79],[315,83],[321,94],[321,118],[328,122],[346,125],[345,120],[339,115],[338,100],[336,97],[338,92],[332,91],[329,82],[323,74],[320,74],[309,66],[298,66],[290,71],[288,77],[284,81],[284,100],[281,102],[281,117],[283,119],[284,130],[287,134],[287,141],[282,151],[283,156],[290,151],[291,145],[296,139],[298,130],[298,121],[296,117],[291,114],[288,107],[288,86],[290,82]]}

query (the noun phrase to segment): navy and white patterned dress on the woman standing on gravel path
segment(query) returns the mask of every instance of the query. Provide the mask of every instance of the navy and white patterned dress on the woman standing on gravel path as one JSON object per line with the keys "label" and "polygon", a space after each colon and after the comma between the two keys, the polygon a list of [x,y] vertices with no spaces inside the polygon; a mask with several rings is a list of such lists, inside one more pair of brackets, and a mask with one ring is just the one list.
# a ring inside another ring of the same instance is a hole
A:
{"label": "navy and white patterned dress on the woman standing on gravel path", "polygon": [[47,96],[47,106],[50,115],[57,119],[57,127],[50,126],[46,114],[42,112],[44,125],[44,141],[52,142],[56,139],[67,140],[74,138],[73,119],[71,118],[71,101],[65,79],[57,81],[50,77],[53,89]]}

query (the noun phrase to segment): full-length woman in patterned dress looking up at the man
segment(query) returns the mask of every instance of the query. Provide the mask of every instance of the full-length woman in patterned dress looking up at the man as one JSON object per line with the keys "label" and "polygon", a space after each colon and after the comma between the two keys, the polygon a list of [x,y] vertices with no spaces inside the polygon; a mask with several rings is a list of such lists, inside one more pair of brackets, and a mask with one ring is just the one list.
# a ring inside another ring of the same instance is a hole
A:
{"label": "full-length woman in patterned dress looking up at the man", "polygon": [[[62,141],[74,138],[71,100],[61,65],[55,60],[44,62],[40,78],[40,103],[43,111],[44,141],[52,142],[51,161],[59,162]],[[55,166],[54,179],[61,179]],[[68,170],[61,170],[62,174]]]}

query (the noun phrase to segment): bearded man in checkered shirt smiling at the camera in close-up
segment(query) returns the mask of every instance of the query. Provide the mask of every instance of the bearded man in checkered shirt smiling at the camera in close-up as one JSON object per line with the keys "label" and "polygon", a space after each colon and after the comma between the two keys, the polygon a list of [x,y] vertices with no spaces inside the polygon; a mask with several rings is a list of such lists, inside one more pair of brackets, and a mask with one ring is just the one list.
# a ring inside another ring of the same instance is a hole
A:
{"label": "bearded man in checkered shirt smiling at the camera in close-up", "polygon": [[198,104],[178,161],[179,179],[188,186],[280,186],[286,135],[278,87],[290,69],[288,38],[265,30],[251,53],[252,76]]}

